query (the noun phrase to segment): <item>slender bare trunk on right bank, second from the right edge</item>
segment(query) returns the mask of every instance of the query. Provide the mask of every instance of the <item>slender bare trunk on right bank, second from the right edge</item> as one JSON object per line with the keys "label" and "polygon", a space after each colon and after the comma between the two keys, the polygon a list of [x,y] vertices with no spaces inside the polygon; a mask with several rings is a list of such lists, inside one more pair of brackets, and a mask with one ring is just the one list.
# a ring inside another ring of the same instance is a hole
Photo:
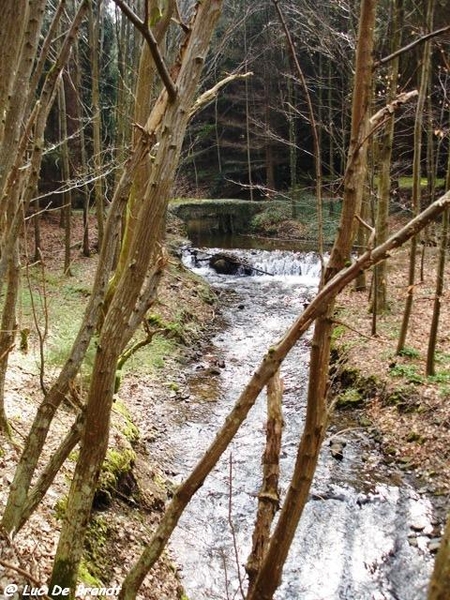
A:
{"label": "slender bare trunk on right bank, second from the right edge", "polygon": [[[434,0],[427,2],[427,29],[432,30],[433,26]],[[417,215],[420,211],[421,200],[421,157],[422,157],[422,125],[423,112],[426,103],[429,71],[431,65],[431,42],[426,41],[423,48],[422,68],[420,73],[419,98],[417,101],[416,119],[414,123],[414,158],[413,158],[413,214]],[[417,258],[417,238],[411,240],[409,255],[408,288],[406,293],[406,302],[403,312],[403,320],[400,328],[400,334],[397,342],[397,354],[405,347],[406,336],[408,334],[409,318],[411,316],[414,288],[416,285],[416,258]]]}

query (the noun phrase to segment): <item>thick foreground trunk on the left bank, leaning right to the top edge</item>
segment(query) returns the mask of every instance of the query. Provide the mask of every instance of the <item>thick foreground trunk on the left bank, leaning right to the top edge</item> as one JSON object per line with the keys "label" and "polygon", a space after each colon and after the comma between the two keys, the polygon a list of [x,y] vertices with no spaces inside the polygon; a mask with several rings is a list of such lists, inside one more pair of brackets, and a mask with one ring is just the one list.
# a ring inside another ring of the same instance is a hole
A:
{"label": "thick foreground trunk on the left bank, leaning right to the top edge", "polygon": [[[151,305],[161,275],[164,259],[160,242],[168,197],[220,8],[221,2],[217,0],[197,5],[195,20],[177,65],[177,89],[175,93],[173,89],[162,92],[145,126],[148,149],[151,151],[156,143],[158,149],[130,241],[130,260],[117,282],[99,334],[87,399],[86,425],[51,579],[51,585],[70,587],[72,597],[84,534],[108,444],[117,360]],[[102,269],[102,265],[98,268]]]}

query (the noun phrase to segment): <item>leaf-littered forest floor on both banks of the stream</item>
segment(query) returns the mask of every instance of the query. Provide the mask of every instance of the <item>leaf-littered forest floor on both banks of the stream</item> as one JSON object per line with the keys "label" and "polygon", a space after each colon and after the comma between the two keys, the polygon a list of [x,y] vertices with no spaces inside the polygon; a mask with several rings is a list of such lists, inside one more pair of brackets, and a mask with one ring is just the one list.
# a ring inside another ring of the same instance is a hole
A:
{"label": "leaf-littered forest floor on both banks of the stream", "polygon": [[[95,256],[83,258],[76,250],[73,275],[64,277],[59,249],[63,235],[54,219],[44,222],[45,268],[50,280],[45,310],[39,269],[30,277],[24,273],[24,287],[28,279],[35,292],[35,310],[39,313],[36,322],[41,328],[44,327],[42,314],[49,313],[49,350],[44,373],[47,382],[62,362],[66,352],[64,341],[70,342],[70,335],[76,329],[77,315],[81,314],[77,311],[82,311],[89,295],[96,266]],[[73,235],[74,240],[81,239],[80,229],[75,228]],[[444,507],[450,497],[450,290],[447,286],[442,303],[437,374],[426,378],[436,249],[427,248],[425,280],[415,290],[407,352],[398,357],[395,346],[407,289],[406,263],[406,250],[396,252],[390,261],[390,309],[378,319],[377,336],[370,335],[368,293],[349,288],[339,296],[334,347],[340,364],[341,359],[345,359],[342,369],[347,373],[347,395],[350,388],[357,392],[355,414],[360,425],[379,440],[387,461],[403,465],[406,472],[417,478],[418,485],[438,497]],[[446,281],[450,269],[447,271]],[[6,410],[15,443],[2,440],[0,505],[6,500],[24,436],[42,398],[39,340],[29,295],[24,295],[21,306],[20,328],[29,327],[31,331],[28,351],[16,348],[11,355]],[[171,475],[170,459],[165,460],[158,453],[149,456],[146,442],[163,435],[166,425],[160,408],[164,401],[168,397],[183,401],[183,371],[196,361],[205,360],[204,345],[217,326],[216,306],[207,286],[188,274],[177,260],[171,260],[153,314],[155,327],[163,332],[155,336],[151,347],[130,360],[114,405],[110,461],[104,469],[104,485],[96,498],[81,572],[81,580],[87,584],[120,583],[164,510],[170,496],[167,484]],[[214,357],[211,358],[214,368],[213,362]],[[340,379],[342,383],[342,376]],[[366,385],[368,381],[375,384],[372,389]],[[85,385],[85,377],[80,378],[78,393],[81,397]],[[346,390],[341,391],[346,393]],[[73,415],[73,407],[67,403],[53,426],[46,457],[51,455]],[[335,419],[339,420],[339,412]],[[112,464],[117,457],[114,452],[128,460]],[[42,585],[48,581],[75,459],[76,453],[73,453],[39,509],[17,536],[0,541],[0,598],[4,597],[1,594],[6,583]],[[145,580],[138,598],[174,600],[182,598],[182,594],[177,569],[165,554]]]}

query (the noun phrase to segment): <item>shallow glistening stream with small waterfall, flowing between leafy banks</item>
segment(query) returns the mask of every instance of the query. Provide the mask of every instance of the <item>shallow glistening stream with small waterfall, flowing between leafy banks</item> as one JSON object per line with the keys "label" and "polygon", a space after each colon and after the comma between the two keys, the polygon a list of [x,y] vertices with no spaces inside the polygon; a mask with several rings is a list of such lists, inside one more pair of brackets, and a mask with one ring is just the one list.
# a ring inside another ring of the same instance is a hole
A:
{"label": "shallow glistening stream with small waterfall, flowing between leafy banks", "polygon": [[[184,400],[169,402],[172,425],[165,443],[171,449],[175,484],[202,455],[267,349],[317,286],[319,264],[313,253],[249,249],[233,254],[273,275],[219,275],[207,261],[194,264],[189,252],[184,257],[185,264],[222,294],[225,325],[192,367]],[[282,498],[305,414],[309,340],[310,334],[281,370]],[[265,403],[262,394],[172,538],[189,600],[242,597],[260,486]],[[345,443],[342,460],[330,452],[336,435]],[[432,531],[430,502],[403,481],[401,471],[383,462],[358,423],[337,414],[275,598],[425,600],[433,563],[427,547]]]}

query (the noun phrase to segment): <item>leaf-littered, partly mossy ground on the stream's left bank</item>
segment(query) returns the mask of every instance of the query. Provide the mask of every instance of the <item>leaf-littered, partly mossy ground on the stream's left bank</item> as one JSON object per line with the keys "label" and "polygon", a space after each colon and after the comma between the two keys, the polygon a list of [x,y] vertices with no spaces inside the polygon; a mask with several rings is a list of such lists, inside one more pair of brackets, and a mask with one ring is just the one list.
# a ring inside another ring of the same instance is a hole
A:
{"label": "leaf-littered, partly mossy ground on the stream's left bank", "polygon": [[[81,240],[79,221],[74,222],[72,235],[74,242]],[[21,336],[18,336],[7,373],[5,405],[13,442],[0,437],[1,512],[23,440],[42,400],[36,324],[41,335],[48,328],[43,369],[43,379],[48,386],[75,337],[97,265],[94,243],[89,258],[81,255],[77,244],[72,256],[72,276],[63,275],[64,231],[56,217],[49,216],[42,221],[42,240],[43,267],[37,265],[23,271],[18,320],[27,347],[19,347]],[[202,339],[210,337],[214,302],[214,294],[206,284],[182,267],[178,259],[171,258],[152,309],[152,326],[160,333],[155,335],[151,345],[125,365],[113,405],[109,449],[80,570],[79,581],[87,586],[120,584],[142,552],[170,497],[170,461],[149,456],[146,442],[164,431],[165,424],[158,417],[159,407],[169,396],[181,393],[178,382],[184,365],[198,360]],[[83,401],[86,396],[89,356],[87,362],[87,369],[73,390],[75,397],[68,398],[52,424],[41,465],[73,422],[72,401]],[[75,450],[39,508],[14,538],[0,535],[0,599],[6,598],[3,591],[7,584],[22,588],[25,584],[40,587],[48,582],[76,457]],[[15,600],[19,595],[10,597]],[[82,597],[96,596],[84,594]],[[165,552],[146,578],[138,599],[182,597],[177,568],[170,554]]]}

